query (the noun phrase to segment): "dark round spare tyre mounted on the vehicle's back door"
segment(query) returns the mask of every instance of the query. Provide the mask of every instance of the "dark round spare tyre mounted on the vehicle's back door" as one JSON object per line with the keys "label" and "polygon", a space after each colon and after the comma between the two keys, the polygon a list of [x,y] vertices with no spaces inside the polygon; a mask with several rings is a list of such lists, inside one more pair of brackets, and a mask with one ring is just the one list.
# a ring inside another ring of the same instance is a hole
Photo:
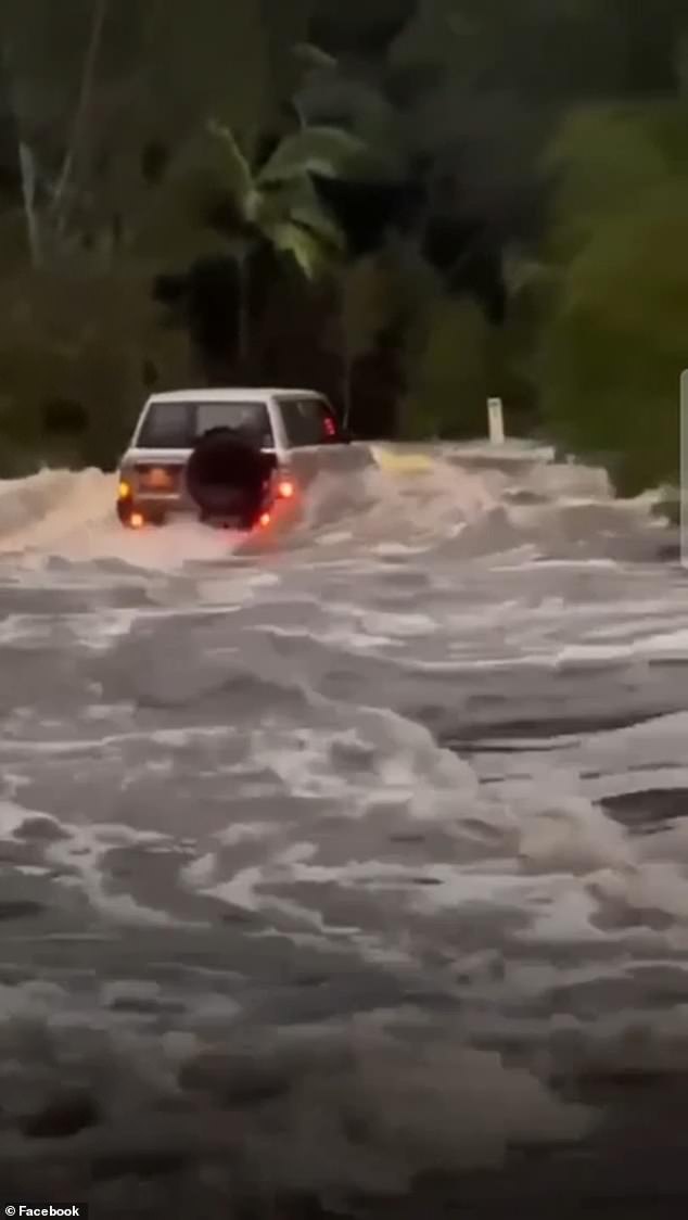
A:
{"label": "dark round spare tyre mounted on the vehicle's back door", "polygon": [[212,428],[198,442],[187,465],[187,488],[205,518],[232,518],[250,527],[260,515],[266,460],[250,437]]}

